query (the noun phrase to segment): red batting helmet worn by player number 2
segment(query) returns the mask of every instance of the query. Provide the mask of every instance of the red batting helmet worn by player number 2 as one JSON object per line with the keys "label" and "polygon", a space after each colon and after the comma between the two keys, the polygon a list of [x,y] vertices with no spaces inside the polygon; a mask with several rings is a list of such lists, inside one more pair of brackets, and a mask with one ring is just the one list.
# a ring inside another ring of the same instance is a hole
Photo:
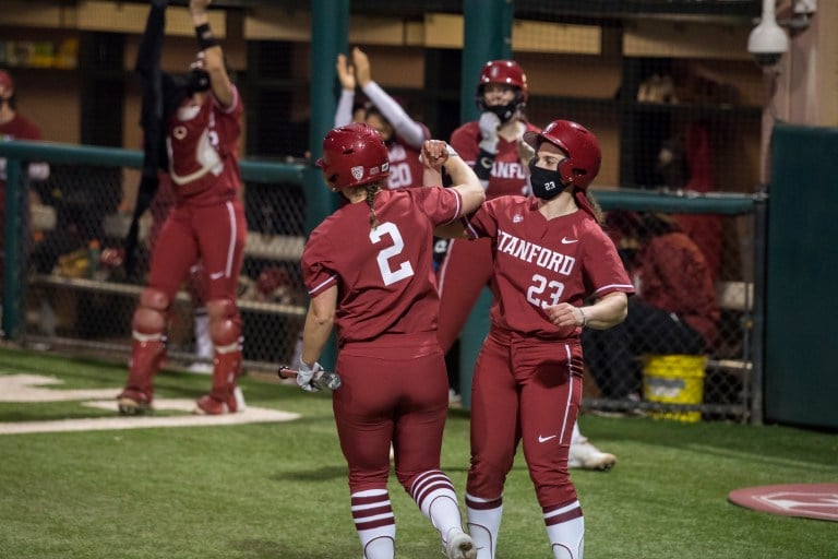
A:
{"label": "red batting helmet worn by player number 2", "polygon": [[350,188],[384,180],[390,175],[387,146],[375,129],[362,122],[335,128],[323,139],[318,167],[331,188]]}

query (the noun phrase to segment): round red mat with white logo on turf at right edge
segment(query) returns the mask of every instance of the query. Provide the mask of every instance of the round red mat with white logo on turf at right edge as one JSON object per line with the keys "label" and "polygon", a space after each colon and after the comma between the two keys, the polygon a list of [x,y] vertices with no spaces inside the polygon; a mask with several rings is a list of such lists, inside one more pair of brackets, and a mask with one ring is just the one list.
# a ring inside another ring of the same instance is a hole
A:
{"label": "round red mat with white logo on turf at right edge", "polygon": [[730,491],[728,499],[757,511],[838,522],[838,484],[747,487]]}

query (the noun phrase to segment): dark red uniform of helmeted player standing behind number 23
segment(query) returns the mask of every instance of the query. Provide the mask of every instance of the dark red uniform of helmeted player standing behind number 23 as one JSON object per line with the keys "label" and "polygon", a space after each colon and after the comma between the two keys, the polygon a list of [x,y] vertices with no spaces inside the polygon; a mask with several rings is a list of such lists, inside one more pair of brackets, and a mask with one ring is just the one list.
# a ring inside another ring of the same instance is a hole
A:
{"label": "dark red uniform of helmeted player standing behind number 23", "polygon": [[[526,124],[526,131],[538,132],[538,128]],[[466,122],[451,135],[451,146],[469,166],[479,155],[480,127]],[[498,154],[489,176],[487,200],[513,194],[526,194],[529,189],[526,169],[518,157],[515,141],[500,138]],[[489,285],[492,276],[492,254],[488,241],[466,242],[453,240],[438,272],[440,286],[440,345],[444,352],[451,349],[468,319],[480,290]]]}

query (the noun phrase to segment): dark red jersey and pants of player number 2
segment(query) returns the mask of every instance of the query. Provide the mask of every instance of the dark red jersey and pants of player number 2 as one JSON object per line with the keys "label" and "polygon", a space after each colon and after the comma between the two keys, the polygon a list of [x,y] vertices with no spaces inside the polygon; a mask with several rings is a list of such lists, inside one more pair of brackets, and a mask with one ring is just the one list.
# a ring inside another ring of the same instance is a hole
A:
{"label": "dark red jersey and pants of player number 2", "polygon": [[311,297],[337,285],[337,371],[333,394],[352,492],[386,486],[390,441],[399,481],[440,466],[447,374],[436,342],[439,298],[433,228],[455,219],[458,192],[383,190],[370,207],[347,204],[314,229],[302,253]]}

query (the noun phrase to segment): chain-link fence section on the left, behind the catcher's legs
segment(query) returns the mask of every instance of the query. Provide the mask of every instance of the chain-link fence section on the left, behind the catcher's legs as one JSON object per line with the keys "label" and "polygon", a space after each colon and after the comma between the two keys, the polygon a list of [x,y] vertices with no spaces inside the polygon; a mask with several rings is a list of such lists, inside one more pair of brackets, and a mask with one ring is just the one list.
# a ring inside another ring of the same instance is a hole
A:
{"label": "chain-link fence section on the left, behind the catcher's legs", "polygon": [[[131,155],[92,148],[82,158],[95,159],[100,152]],[[19,230],[24,305],[16,337],[36,347],[128,355],[152,243],[169,207],[167,193],[158,190],[140,222],[136,271],[129,276],[123,261],[131,214],[125,207],[133,200],[124,200],[123,192],[135,191],[135,170],[88,163],[51,167],[47,181],[23,181],[28,188],[21,200],[29,201],[29,213]],[[242,177],[248,239],[238,304],[246,367],[274,368],[290,359],[307,304],[299,270],[306,216],[302,170],[294,164],[243,162]],[[197,344],[202,308],[193,284],[193,277],[184,281],[171,308],[170,366],[208,364],[212,358]]]}

